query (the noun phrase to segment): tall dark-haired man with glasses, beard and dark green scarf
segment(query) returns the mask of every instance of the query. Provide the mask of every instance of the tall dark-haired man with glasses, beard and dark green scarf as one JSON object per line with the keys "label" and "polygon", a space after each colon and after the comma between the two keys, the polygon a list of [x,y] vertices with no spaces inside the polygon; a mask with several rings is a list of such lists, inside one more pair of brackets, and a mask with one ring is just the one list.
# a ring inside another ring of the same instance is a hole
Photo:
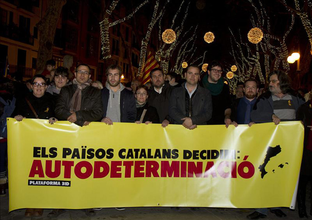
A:
{"label": "tall dark-haired man with glasses, beard and dark green scarf", "polygon": [[213,116],[208,124],[225,124],[228,127],[231,123],[231,95],[230,88],[224,83],[221,76],[223,68],[220,62],[214,60],[208,66],[208,75],[205,75],[202,84],[211,93],[213,100]]}

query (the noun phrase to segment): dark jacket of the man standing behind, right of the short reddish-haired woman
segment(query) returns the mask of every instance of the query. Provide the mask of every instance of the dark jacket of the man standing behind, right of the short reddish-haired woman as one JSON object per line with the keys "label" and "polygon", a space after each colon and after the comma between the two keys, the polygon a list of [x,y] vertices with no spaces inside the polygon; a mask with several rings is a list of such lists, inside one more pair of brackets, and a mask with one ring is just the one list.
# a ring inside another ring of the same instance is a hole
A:
{"label": "dark jacket of the man standing behind, right of the short reddish-haired woman", "polygon": [[171,92],[174,89],[176,88],[171,86],[168,82],[165,82],[160,94],[155,91],[154,86],[151,86],[148,91],[147,101],[151,106],[157,109],[160,123],[165,119],[173,122],[169,118],[169,100]]}

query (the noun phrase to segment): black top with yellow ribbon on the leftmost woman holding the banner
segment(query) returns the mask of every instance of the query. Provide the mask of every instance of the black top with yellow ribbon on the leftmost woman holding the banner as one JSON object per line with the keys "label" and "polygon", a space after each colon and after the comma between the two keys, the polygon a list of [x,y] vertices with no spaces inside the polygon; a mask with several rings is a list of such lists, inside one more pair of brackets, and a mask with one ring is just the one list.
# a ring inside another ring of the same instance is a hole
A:
{"label": "black top with yellow ribbon on the leftmost woman holding the banner", "polygon": [[55,117],[54,108],[55,102],[54,98],[50,93],[44,93],[40,98],[37,98],[33,93],[28,93],[25,98],[18,98],[16,101],[16,108],[12,116],[21,115],[26,119],[36,119],[35,114],[27,104],[26,99],[29,100],[33,108],[35,109],[39,119],[50,119]]}

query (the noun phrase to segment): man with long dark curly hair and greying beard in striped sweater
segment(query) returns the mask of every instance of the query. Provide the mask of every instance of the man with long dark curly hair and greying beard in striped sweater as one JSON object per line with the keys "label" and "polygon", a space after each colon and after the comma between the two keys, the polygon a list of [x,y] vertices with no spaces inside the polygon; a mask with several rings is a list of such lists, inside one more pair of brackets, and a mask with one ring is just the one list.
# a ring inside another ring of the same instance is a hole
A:
{"label": "man with long dark curly hair and greying beard in striped sweater", "polygon": [[[256,101],[254,110],[251,112],[251,119],[255,123],[295,120],[296,111],[304,100],[292,95],[292,88],[289,76],[282,70],[274,70],[268,75],[269,91],[264,93]],[[265,218],[268,209],[256,209],[247,216],[248,219]],[[280,208],[271,209],[277,217],[286,217]]]}

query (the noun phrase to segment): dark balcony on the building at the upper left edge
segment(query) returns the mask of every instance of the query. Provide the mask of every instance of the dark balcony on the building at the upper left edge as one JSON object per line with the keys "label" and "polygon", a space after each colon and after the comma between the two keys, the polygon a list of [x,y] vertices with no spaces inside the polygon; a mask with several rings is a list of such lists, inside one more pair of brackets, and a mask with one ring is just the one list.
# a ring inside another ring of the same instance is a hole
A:
{"label": "dark balcony on the building at the upper left edge", "polygon": [[0,36],[34,46],[34,36],[16,24],[0,24]]}

